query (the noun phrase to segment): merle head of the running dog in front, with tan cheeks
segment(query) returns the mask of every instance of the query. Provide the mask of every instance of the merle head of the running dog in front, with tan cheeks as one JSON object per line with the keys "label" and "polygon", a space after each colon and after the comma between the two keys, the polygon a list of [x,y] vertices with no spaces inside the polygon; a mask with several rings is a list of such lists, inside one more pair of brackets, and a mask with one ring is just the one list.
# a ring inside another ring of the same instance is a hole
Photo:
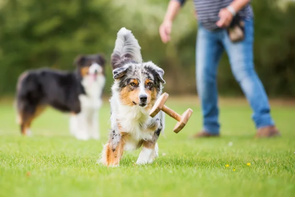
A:
{"label": "merle head of the running dog in front, with tan cheeks", "polygon": [[152,107],[165,84],[164,70],[152,62],[128,63],[113,75],[121,102],[129,106]]}

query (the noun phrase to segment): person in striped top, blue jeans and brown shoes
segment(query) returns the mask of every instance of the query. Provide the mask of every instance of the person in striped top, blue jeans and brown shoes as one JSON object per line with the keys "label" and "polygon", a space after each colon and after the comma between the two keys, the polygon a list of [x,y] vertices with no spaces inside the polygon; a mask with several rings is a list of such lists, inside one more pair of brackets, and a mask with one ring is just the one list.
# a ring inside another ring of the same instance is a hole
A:
{"label": "person in striped top, blue jeans and brown shoes", "polygon": [[[185,0],[170,0],[163,23],[161,40],[170,41],[173,20]],[[199,21],[196,43],[197,90],[203,113],[203,130],[194,137],[220,135],[216,75],[225,50],[232,72],[253,110],[256,137],[280,135],[270,115],[265,88],[253,61],[253,10],[250,0],[194,0]]]}

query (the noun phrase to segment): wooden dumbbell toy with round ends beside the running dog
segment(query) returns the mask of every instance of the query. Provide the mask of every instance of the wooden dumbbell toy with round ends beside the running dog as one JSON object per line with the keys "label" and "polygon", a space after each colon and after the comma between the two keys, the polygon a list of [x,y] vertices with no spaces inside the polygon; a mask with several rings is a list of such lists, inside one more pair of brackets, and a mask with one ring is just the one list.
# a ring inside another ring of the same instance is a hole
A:
{"label": "wooden dumbbell toy with round ends beside the running dog", "polygon": [[169,107],[165,105],[166,100],[169,95],[167,93],[163,93],[159,99],[157,99],[156,103],[152,107],[149,112],[149,116],[154,117],[160,110],[164,111],[166,114],[177,120],[177,124],[174,127],[173,131],[178,133],[182,128],[186,125],[188,119],[193,114],[193,110],[188,108],[183,114],[180,116],[177,112],[173,111]]}

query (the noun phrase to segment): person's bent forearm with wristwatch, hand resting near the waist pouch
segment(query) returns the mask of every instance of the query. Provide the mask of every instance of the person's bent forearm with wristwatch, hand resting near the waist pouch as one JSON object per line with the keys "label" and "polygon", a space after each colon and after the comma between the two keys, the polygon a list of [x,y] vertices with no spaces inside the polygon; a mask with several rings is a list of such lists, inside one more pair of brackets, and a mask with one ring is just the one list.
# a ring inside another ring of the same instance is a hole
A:
{"label": "person's bent forearm with wristwatch, hand resting near the waist pouch", "polygon": [[223,8],[219,11],[219,21],[216,22],[216,25],[220,28],[228,27],[234,15],[245,7],[251,0],[233,0],[233,2],[226,8]]}

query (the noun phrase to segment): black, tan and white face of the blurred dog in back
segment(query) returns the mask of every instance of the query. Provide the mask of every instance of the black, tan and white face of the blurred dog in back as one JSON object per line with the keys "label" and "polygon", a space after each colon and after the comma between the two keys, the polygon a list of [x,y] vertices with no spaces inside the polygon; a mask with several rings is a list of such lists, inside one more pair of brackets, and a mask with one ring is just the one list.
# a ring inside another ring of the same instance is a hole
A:
{"label": "black, tan and white face of the blurred dog in back", "polygon": [[75,60],[82,78],[97,80],[98,75],[104,75],[105,59],[101,54],[80,55]]}

